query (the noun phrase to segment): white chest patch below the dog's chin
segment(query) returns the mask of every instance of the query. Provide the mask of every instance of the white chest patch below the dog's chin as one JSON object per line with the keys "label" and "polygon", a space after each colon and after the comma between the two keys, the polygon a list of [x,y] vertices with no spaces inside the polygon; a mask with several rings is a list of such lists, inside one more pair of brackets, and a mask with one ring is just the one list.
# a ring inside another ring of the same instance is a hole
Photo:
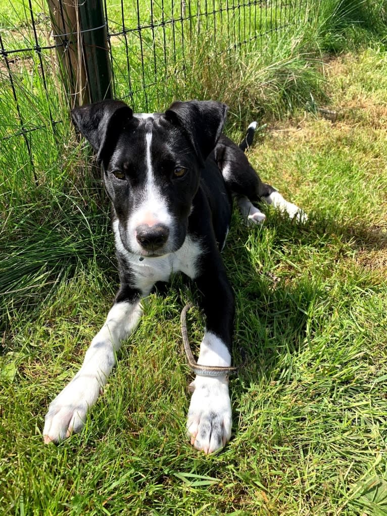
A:
{"label": "white chest patch below the dog's chin", "polygon": [[134,274],[135,286],[146,291],[156,281],[168,281],[175,272],[183,272],[189,278],[198,276],[198,257],[202,248],[197,241],[187,236],[182,247],[174,252],[157,258],[127,255]]}

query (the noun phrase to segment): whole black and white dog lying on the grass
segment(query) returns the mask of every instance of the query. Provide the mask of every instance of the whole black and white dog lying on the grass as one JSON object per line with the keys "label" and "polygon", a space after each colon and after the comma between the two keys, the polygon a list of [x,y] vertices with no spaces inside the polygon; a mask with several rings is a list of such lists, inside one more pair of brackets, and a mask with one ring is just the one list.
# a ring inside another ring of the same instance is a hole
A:
{"label": "whole black and white dog lying on the grass", "polygon": [[[120,288],[78,373],[52,401],[44,441],[79,431],[88,409],[115,365],[116,352],[136,328],[141,299],[174,272],[195,280],[206,327],[198,364],[231,365],[234,297],[220,257],[235,197],[248,222],[265,215],[260,201],[300,218],[300,209],[263,183],[243,148],[221,134],[227,106],[175,102],[165,113],[133,114],[125,103],[105,101],[76,108],[72,118],[103,168],[112,204]],[[253,132],[254,126],[250,128]],[[227,376],[197,375],[187,433],[204,453],[231,436]]]}

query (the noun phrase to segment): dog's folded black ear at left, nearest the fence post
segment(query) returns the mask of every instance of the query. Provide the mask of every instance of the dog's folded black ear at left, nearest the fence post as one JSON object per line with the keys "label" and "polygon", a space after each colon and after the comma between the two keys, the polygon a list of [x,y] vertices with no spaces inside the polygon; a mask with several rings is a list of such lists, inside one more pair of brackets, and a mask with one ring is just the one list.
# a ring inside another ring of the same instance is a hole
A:
{"label": "dog's folded black ear at left, nearest the fence post", "polygon": [[101,160],[108,141],[133,118],[133,111],[122,101],[106,100],[72,109],[71,118]]}

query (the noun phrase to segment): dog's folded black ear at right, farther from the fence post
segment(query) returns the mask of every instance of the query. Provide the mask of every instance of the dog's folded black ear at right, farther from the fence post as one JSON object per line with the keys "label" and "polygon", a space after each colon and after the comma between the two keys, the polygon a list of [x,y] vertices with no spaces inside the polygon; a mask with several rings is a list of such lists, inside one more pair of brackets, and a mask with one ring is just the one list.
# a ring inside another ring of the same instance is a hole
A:
{"label": "dog's folded black ear at right, farther from the fence post", "polygon": [[222,132],[227,106],[220,102],[174,102],[165,116],[180,125],[192,144],[201,164],[216,146]]}

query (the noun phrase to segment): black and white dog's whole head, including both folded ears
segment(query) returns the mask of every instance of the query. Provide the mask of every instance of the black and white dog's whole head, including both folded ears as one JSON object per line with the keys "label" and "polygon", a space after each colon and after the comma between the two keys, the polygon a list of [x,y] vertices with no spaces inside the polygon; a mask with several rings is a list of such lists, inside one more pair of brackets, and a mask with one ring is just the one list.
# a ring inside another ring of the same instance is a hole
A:
{"label": "black and white dog's whole head, including both folded ears", "polygon": [[103,167],[127,251],[162,256],[183,245],[200,170],[226,112],[211,101],[175,102],[152,115],[134,115],[121,101],[73,109],[75,126]]}

